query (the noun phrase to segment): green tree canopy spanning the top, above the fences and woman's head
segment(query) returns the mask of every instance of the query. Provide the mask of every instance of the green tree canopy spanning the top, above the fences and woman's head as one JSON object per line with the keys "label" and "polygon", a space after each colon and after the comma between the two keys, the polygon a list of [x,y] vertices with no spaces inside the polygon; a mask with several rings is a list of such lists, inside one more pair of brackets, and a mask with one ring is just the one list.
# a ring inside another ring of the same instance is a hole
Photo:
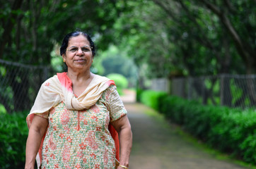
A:
{"label": "green tree canopy spanning the top, above the fences and woman's head", "polygon": [[76,28],[115,44],[148,77],[256,73],[253,0],[10,0],[0,4],[0,58],[33,65]]}

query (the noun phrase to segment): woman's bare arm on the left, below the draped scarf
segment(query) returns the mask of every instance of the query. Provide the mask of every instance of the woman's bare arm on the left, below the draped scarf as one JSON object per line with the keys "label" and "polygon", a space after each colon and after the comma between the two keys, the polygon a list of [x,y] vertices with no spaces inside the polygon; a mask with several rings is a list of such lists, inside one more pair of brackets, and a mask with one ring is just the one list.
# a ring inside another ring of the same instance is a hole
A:
{"label": "woman's bare arm on the left, below the draped scarf", "polygon": [[42,137],[47,129],[48,120],[35,115],[30,125],[25,148],[25,169],[34,169],[35,157],[40,147]]}

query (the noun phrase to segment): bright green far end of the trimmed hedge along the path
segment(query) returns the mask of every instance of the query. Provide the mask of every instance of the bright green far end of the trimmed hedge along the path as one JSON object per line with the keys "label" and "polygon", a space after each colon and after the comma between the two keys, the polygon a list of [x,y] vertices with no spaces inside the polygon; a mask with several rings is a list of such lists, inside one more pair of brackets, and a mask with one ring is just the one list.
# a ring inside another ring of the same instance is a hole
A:
{"label": "bright green far end of the trimmed hedge along the path", "polygon": [[153,90],[146,90],[141,92],[140,101],[141,103],[146,104],[146,106],[149,106],[151,108],[158,110],[159,98],[165,95],[166,95],[165,92],[156,92]]}

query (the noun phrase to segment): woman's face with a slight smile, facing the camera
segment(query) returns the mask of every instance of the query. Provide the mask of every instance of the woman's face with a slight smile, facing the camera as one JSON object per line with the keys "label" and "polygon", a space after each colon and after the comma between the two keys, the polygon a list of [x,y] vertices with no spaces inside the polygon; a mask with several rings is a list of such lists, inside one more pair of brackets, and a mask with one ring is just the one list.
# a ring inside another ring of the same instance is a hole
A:
{"label": "woman's face with a slight smile, facing the camera", "polygon": [[66,53],[62,55],[68,70],[85,71],[90,70],[93,63],[93,53],[90,42],[83,35],[71,37]]}

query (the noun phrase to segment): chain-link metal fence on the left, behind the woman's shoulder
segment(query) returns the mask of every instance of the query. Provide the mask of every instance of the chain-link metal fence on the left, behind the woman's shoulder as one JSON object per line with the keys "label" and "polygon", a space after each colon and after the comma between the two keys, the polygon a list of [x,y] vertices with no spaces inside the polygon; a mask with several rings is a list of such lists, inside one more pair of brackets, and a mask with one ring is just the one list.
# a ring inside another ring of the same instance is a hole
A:
{"label": "chain-link metal fence on the left, behind the woman's shoulder", "polygon": [[0,113],[30,110],[50,66],[24,65],[0,59]]}

